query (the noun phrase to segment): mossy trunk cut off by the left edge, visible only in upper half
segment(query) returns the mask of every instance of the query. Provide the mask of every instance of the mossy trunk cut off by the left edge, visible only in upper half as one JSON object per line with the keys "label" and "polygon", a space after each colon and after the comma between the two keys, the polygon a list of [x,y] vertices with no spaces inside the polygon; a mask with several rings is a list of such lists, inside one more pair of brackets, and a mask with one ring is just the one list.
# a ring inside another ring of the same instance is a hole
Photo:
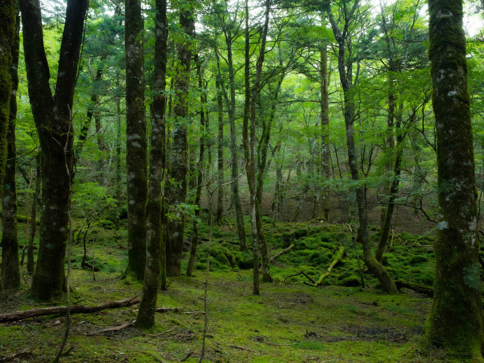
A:
{"label": "mossy trunk cut off by the left edge, visible only in upper half", "polygon": [[7,129],[12,94],[12,44],[15,42],[17,0],[3,0],[0,6],[0,184],[7,160]]}

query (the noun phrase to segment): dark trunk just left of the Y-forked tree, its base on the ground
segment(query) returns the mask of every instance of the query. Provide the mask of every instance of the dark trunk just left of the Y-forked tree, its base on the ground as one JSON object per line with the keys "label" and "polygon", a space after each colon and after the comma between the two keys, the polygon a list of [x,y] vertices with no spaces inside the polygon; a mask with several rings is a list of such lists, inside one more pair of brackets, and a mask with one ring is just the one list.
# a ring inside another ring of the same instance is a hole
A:
{"label": "dark trunk just left of the Y-forked tree, its base on the ground", "polygon": [[[3,178],[2,208],[2,236],[1,236],[1,280],[0,289],[19,288],[19,240],[17,239],[17,188],[15,186],[15,172],[17,171],[17,149],[15,148],[15,120],[17,119],[17,89],[19,86],[19,44],[20,17],[17,16],[17,26],[10,53],[10,76],[12,90],[10,94],[10,115],[7,133],[7,162],[5,177]],[[34,205],[35,207],[35,205]]]}

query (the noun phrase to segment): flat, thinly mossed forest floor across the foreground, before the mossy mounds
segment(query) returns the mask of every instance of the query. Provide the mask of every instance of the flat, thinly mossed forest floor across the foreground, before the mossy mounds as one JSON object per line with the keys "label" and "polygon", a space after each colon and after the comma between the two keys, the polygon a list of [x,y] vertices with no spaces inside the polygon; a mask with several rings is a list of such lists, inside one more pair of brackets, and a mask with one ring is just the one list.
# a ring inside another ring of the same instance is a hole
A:
{"label": "flat, thinly mossed forest floor across the foreground, before the mossy mounds", "polygon": [[[119,274],[73,271],[75,304],[98,304],[138,295],[141,284]],[[198,362],[204,315],[203,272],[170,279],[158,306],[156,328],[86,334],[136,318],[136,306],[72,315],[62,362]],[[427,362],[418,339],[431,299],[410,290],[384,295],[373,288],[294,283],[261,285],[252,295],[249,270],[212,272],[208,287],[207,362]],[[17,297],[21,298],[22,294]],[[33,301],[31,301],[33,304]],[[27,308],[25,299],[10,309]],[[3,306],[5,307],[5,306]],[[39,307],[35,305],[35,307]],[[9,310],[10,310],[9,309]],[[2,309],[3,310],[3,309]],[[190,313],[190,314],[187,314]],[[38,317],[0,325],[0,356],[25,352],[20,362],[48,362],[64,332],[64,316]],[[192,353],[192,354],[190,354]]]}

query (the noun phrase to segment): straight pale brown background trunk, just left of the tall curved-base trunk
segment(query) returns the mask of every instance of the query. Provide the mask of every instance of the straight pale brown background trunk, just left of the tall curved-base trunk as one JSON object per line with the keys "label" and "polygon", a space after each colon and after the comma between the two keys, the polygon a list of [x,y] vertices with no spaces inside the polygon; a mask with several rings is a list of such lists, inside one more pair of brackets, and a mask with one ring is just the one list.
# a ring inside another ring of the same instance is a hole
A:
{"label": "straight pale brown background trunk, just left of the tall curved-base trunk", "polygon": [[[321,51],[321,174],[324,180],[331,178],[330,169],[330,144],[329,144],[329,94],[328,94],[328,51]],[[319,218],[329,221],[331,211],[331,190],[329,187],[322,188],[321,208]]]}

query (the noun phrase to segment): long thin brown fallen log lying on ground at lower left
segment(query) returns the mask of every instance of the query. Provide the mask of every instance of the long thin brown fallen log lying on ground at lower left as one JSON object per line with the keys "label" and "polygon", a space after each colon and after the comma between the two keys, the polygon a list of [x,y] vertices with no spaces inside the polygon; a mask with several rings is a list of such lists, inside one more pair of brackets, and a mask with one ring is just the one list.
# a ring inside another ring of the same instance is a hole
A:
{"label": "long thin brown fallen log lying on ground at lower left", "polygon": [[[71,306],[71,314],[77,313],[95,313],[104,309],[113,308],[124,308],[126,306],[131,306],[138,304],[141,299],[136,295],[135,297],[130,297],[129,299],[123,299],[118,301],[108,301],[96,306],[87,305],[74,305]],[[27,319],[29,317],[41,317],[45,315],[57,315],[65,314],[66,306],[52,306],[50,308],[36,308],[30,310],[15,311],[13,313],[0,314],[0,323],[6,322],[17,322],[18,320]]]}

